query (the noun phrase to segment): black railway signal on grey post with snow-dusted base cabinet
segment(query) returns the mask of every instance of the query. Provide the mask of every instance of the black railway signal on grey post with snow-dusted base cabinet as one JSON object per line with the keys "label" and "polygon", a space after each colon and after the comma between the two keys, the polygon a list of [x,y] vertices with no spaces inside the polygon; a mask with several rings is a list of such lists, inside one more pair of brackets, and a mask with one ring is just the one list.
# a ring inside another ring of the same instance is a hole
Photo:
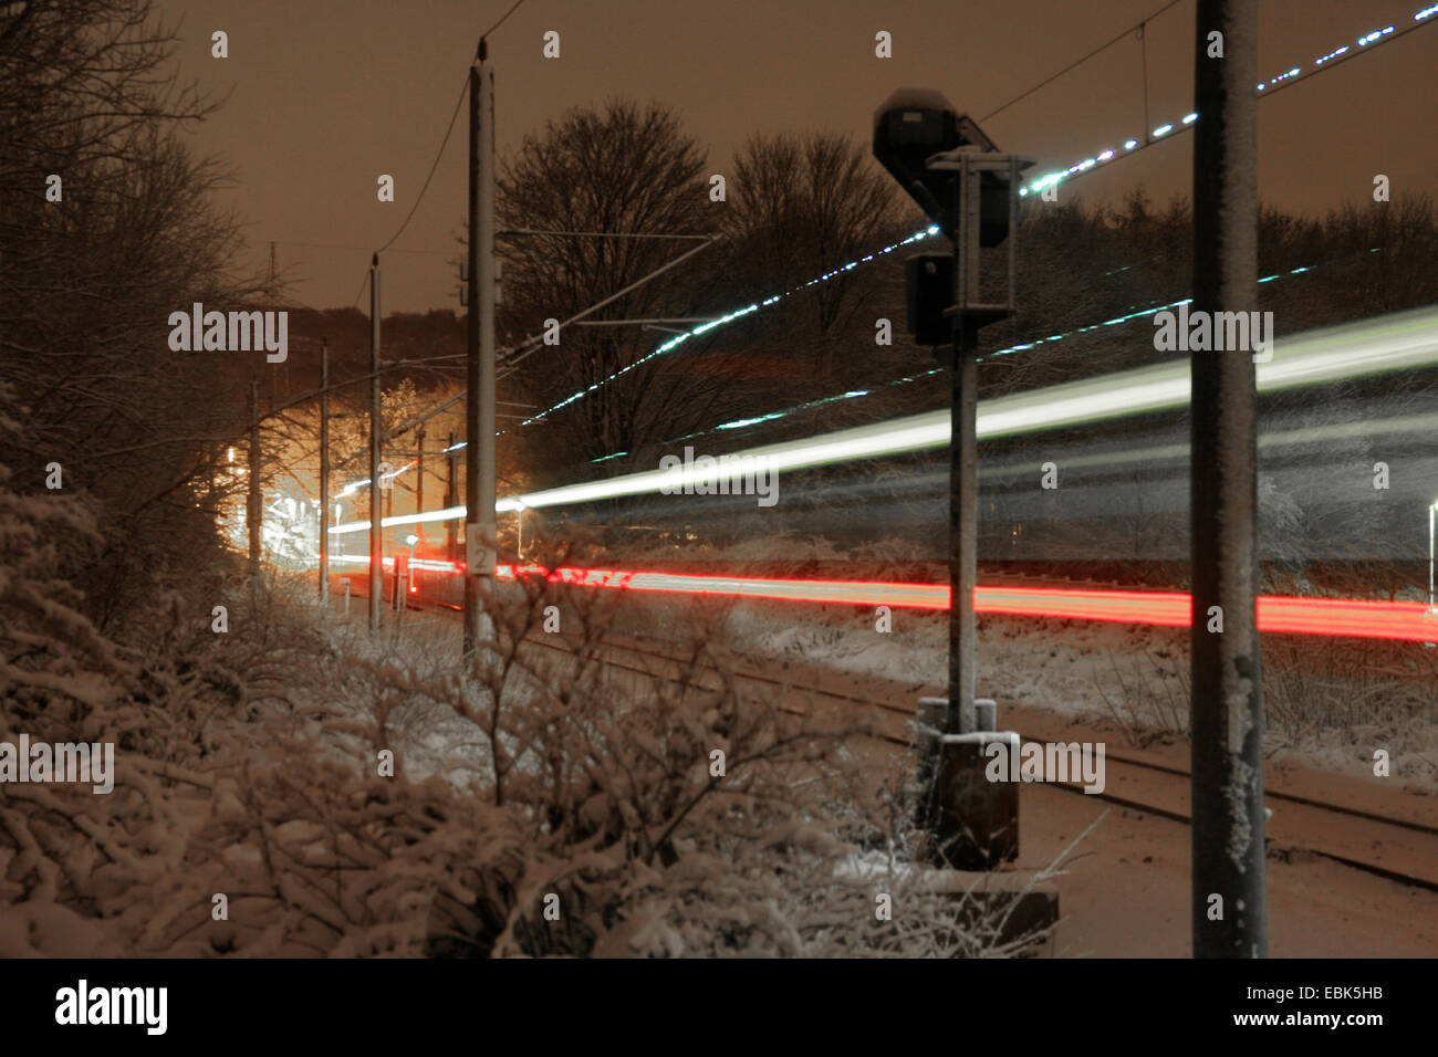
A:
{"label": "black railway signal on grey post with snow-dusted base cabinet", "polygon": [[[975,700],[974,590],[978,538],[978,403],[981,326],[1014,312],[1018,186],[1032,160],[999,154],[994,141],[942,93],[899,89],[874,112],[874,157],[939,227],[951,255],[906,262],[909,329],[933,345],[953,385],[949,463],[949,696],[920,705],[919,824],[940,863],[992,869],[1018,854],[1017,788],[984,777],[992,706]],[[989,275],[991,250],[1008,243],[1007,266]],[[994,290],[998,290],[997,296]],[[985,299],[991,298],[991,299]],[[982,719],[981,719],[982,713]]]}

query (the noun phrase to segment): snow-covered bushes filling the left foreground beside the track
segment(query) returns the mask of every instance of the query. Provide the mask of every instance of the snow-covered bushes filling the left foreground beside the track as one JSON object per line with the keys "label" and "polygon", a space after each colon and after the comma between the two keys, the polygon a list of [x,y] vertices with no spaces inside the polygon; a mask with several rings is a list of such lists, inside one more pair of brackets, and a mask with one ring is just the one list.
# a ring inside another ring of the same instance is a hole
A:
{"label": "snow-covered bushes filling the left foreground beside the track", "polygon": [[[0,739],[116,765],[109,794],[0,787],[0,956],[1001,946],[909,879],[907,805],[841,749],[858,725],[746,687],[718,637],[615,670],[605,600],[531,581],[464,670],[453,620],[370,636],[270,582],[157,592],[121,643],[69,587],[85,500],[7,479]],[[880,851],[893,920],[853,867]]]}

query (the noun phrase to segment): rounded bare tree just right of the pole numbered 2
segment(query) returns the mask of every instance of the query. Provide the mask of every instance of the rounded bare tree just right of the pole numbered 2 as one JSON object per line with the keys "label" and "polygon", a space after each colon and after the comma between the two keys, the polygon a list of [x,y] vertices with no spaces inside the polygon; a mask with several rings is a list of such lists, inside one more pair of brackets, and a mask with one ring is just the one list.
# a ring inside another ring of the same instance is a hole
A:
{"label": "rounded bare tree just right of the pole numbered 2", "polygon": [[[498,180],[502,229],[706,234],[719,229],[725,206],[702,178],[705,154],[673,111],[614,101],[574,109],[526,137]],[[545,319],[565,319],[641,279],[677,256],[686,243],[661,239],[597,239],[513,234],[505,262],[505,324],[536,334]],[[702,280],[718,260],[697,260],[687,275],[670,273],[601,309],[592,319],[696,315]],[[637,326],[575,326],[561,344],[541,349],[519,378],[528,400],[548,407],[630,368],[666,337]],[[663,439],[684,420],[699,421],[718,397],[695,375],[664,375],[644,365],[591,391],[552,416],[539,465],[564,465],[633,452]],[[559,462],[562,459],[562,462]]]}

